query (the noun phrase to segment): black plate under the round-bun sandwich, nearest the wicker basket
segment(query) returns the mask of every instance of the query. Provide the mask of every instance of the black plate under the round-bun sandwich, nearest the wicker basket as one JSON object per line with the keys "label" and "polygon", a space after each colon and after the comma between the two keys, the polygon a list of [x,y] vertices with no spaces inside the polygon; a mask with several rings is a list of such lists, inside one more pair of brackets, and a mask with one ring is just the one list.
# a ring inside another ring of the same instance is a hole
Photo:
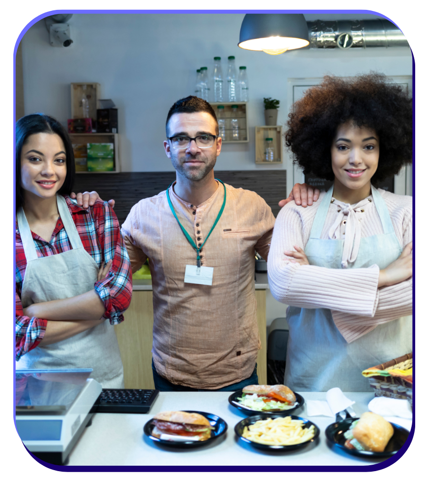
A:
{"label": "black plate under the round-bun sandwich, nearest the wicker basket", "polygon": [[388,445],[385,447],[385,451],[369,452],[366,450],[351,450],[344,445],[346,442],[344,433],[349,430],[350,424],[354,420],[358,420],[358,418],[346,418],[340,422],[332,423],[325,429],[325,436],[331,443],[337,445],[339,448],[342,448],[342,450],[346,451],[350,455],[355,455],[356,457],[391,457],[404,445],[404,442],[407,440],[407,437],[410,433],[405,428],[400,427],[395,423],[391,423],[394,433],[391,437],[391,440],[389,440]]}

